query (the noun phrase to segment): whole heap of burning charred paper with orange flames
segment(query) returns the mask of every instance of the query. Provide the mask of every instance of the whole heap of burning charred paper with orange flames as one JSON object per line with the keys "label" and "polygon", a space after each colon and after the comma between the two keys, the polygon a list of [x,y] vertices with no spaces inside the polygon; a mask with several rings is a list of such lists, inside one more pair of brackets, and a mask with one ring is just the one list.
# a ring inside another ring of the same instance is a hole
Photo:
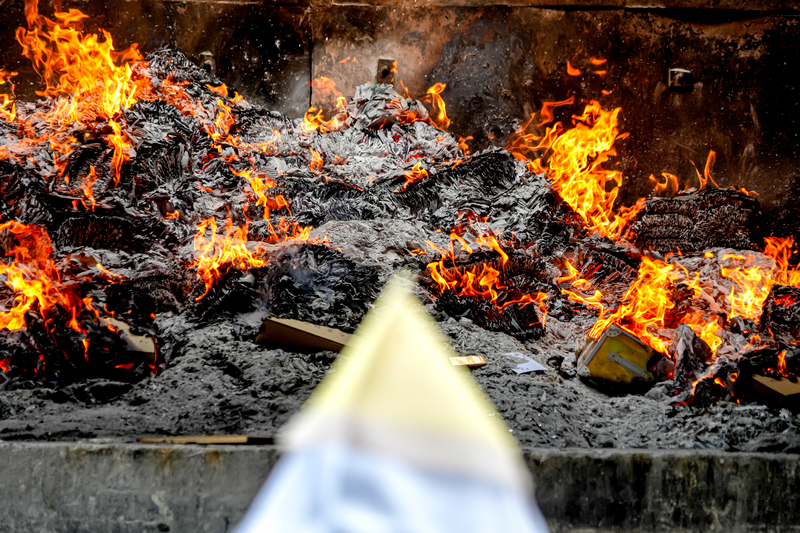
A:
{"label": "whole heap of burning charred paper with orange flames", "polygon": [[117,52],[80,12],[26,6],[17,39],[43,99],[0,96],[12,378],[136,381],[180,355],[178,330],[248,313],[349,332],[410,268],[441,318],[523,341],[548,317],[596,315],[578,373],[671,380],[678,404],[797,380],[793,241],[763,239],[758,200],[715,186],[713,153],[699,189],[664,175],[620,207],[622,174],[604,165],[627,135],[597,101],[547,103],[507,150],[468,155],[446,131],[444,84],[348,99],[321,78],[334,114],[290,120],[179,52]]}

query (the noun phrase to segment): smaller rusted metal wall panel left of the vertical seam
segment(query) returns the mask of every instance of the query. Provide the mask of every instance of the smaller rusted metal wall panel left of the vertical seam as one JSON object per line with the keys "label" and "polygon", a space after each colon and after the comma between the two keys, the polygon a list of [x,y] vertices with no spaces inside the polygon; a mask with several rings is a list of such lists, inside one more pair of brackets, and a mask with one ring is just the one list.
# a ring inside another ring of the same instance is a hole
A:
{"label": "smaller rusted metal wall panel left of the vertical seam", "polygon": [[[308,7],[238,0],[63,2],[63,9],[70,8],[89,15],[87,30],[107,30],[117,50],[138,43],[146,54],[171,45],[197,63],[211,57],[217,76],[248,100],[295,116],[308,108]],[[53,8],[40,2],[40,9],[52,13]],[[21,0],[9,6],[4,20],[0,39],[7,46],[0,50],[0,67],[20,73],[15,78],[20,98],[36,98],[38,76],[14,39],[16,28],[25,26]]]}

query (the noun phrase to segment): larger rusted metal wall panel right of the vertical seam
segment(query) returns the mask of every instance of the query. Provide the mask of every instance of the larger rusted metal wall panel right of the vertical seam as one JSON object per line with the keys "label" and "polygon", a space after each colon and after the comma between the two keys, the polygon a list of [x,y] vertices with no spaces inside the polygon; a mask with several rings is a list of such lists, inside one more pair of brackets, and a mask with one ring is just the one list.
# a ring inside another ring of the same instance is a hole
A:
{"label": "larger rusted metal wall panel right of the vertical seam", "polygon": [[[794,18],[711,13],[698,23],[647,11],[342,6],[313,8],[312,32],[313,75],[345,94],[374,79],[378,57],[397,59],[397,80],[412,96],[446,83],[450,129],[473,136],[476,148],[505,146],[544,101],[574,94],[622,107],[631,133],[618,142],[615,167],[626,176],[624,202],[652,190],[650,174],[676,174],[681,183],[696,176],[692,161],[702,170],[711,149],[721,186],[757,190],[767,211],[794,197]],[[358,63],[339,63],[348,56]],[[597,67],[590,57],[608,62]],[[570,60],[580,76],[568,75]],[[690,90],[668,87],[675,68],[691,71]],[[580,107],[564,109],[565,118]]]}

